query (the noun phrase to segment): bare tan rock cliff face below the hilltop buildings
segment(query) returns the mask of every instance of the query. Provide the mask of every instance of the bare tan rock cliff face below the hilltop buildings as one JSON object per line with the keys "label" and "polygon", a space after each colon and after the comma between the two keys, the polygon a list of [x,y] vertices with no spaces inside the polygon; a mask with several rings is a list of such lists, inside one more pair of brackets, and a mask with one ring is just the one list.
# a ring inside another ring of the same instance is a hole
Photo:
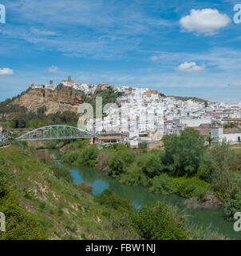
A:
{"label": "bare tan rock cliff face below the hilltop buildings", "polygon": [[55,90],[30,89],[11,104],[25,106],[27,110],[34,112],[45,106],[45,114],[52,114],[65,110],[77,111],[77,107],[83,103],[83,97],[83,93],[79,90],[57,86]]}

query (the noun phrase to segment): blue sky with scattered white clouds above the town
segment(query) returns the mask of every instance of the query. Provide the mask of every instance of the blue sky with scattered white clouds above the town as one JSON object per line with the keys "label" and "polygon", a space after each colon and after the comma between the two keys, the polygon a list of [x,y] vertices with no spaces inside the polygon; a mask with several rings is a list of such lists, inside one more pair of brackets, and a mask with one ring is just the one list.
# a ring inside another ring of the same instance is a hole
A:
{"label": "blue sky with scattered white clouds above the town", "polygon": [[[240,1],[241,3],[241,1]],[[150,87],[241,100],[239,1],[0,0],[0,100],[31,83]]]}

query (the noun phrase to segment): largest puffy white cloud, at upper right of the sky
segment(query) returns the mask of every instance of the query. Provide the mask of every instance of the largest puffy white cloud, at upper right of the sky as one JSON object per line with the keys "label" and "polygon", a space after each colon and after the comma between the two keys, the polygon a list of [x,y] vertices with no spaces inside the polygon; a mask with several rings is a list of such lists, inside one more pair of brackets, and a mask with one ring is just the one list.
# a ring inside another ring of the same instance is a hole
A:
{"label": "largest puffy white cloud, at upper right of the sky", "polygon": [[180,26],[188,32],[198,32],[204,34],[215,34],[215,32],[231,22],[227,14],[220,14],[216,9],[202,9],[190,11],[180,19]]}

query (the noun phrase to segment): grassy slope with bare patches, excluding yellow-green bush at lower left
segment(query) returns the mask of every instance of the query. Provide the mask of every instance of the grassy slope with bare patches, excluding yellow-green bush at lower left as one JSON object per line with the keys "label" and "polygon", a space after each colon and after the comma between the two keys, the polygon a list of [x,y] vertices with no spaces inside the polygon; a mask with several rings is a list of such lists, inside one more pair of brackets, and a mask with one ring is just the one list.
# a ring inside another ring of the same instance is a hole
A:
{"label": "grassy slope with bare patches, excluding yellow-green bush at lower left", "polygon": [[[56,178],[53,170],[29,151],[19,146],[1,149],[0,164],[0,171],[19,195],[20,206],[38,218],[49,238],[121,239],[122,232],[113,230],[102,214],[104,207],[77,186]],[[130,234],[129,238],[135,237]]]}

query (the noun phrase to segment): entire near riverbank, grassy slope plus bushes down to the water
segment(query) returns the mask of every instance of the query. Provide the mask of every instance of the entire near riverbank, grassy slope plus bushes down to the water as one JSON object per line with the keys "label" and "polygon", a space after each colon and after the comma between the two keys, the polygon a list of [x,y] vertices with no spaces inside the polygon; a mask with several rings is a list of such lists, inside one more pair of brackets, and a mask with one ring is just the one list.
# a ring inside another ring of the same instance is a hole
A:
{"label": "entire near riverbank, grassy slope plus bushes down to the water", "polygon": [[135,210],[111,188],[89,194],[88,185],[73,183],[66,166],[39,161],[35,153],[22,142],[0,151],[0,211],[6,213],[0,239],[223,239],[190,226],[176,207],[160,200]]}

